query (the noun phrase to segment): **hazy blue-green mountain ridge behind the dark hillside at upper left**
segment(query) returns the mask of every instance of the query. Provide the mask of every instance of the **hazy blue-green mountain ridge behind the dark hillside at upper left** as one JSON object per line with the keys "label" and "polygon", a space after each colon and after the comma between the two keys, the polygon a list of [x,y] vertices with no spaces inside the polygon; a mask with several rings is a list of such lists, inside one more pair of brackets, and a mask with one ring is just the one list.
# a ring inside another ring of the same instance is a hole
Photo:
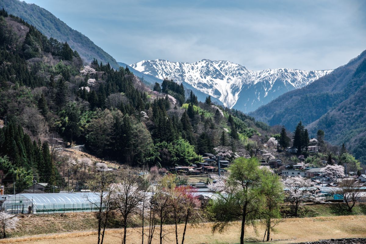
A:
{"label": "hazy blue-green mountain ridge behind the dark hillside at upper left", "polygon": [[117,61],[111,55],[79,31],[71,29],[66,23],[44,8],[36,4],[28,4],[25,1],[0,0],[1,8],[5,8],[9,14],[19,16],[27,23],[35,26],[47,37],[67,42],[87,62],[91,62],[95,58],[104,64],[109,62],[115,69],[119,67]]}

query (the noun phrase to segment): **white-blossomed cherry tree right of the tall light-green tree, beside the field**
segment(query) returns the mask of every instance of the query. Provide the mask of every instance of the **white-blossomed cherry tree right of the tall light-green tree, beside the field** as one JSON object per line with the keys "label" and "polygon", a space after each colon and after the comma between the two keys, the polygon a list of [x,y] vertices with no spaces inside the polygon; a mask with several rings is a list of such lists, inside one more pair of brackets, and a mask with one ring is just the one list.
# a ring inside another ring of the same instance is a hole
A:
{"label": "white-blossomed cherry tree right of the tall light-green tree, beside the field", "polygon": [[309,179],[301,176],[289,177],[283,181],[283,185],[287,190],[285,200],[292,205],[295,216],[298,216],[299,207],[303,202],[324,202],[324,196],[317,192],[315,182]]}

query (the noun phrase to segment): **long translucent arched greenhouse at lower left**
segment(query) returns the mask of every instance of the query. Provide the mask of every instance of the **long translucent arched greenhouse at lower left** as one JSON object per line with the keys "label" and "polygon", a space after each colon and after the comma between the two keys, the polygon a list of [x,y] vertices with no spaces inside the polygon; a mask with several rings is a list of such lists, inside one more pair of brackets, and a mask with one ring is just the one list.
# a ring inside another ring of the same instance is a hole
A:
{"label": "long translucent arched greenhouse at lower left", "polygon": [[100,195],[93,192],[24,193],[4,201],[1,208],[10,214],[53,214],[98,211]]}

